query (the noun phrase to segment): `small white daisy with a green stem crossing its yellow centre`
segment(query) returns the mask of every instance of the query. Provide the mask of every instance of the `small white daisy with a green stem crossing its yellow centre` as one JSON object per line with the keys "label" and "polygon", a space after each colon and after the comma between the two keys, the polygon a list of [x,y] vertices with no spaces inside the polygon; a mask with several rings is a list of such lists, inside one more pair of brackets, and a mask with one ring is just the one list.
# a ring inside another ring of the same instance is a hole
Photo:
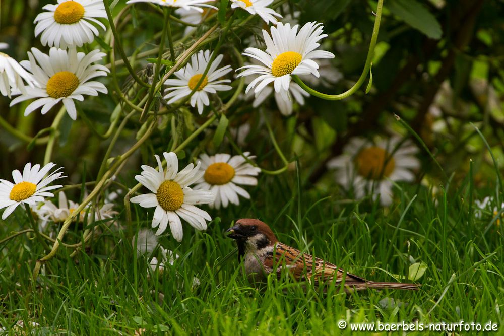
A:
{"label": "small white daisy with a green stem crossing its yellow centre", "polygon": [[[166,96],[164,96],[164,99],[168,99],[168,104],[182,99],[183,97],[186,97],[191,93],[191,91],[196,87],[201,77],[203,76],[203,73],[207,68],[211,56],[212,54],[210,53],[210,50],[200,50],[198,54],[194,54],[191,57],[191,63],[187,63],[187,65],[185,65],[185,68],[175,72],[175,76],[178,77],[178,79],[168,79],[166,80],[166,82],[164,82],[165,85],[175,85],[165,90],[165,92],[171,91]],[[221,84],[230,83],[231,80],[218,80],[218,78],[221,78],[232,70],[231,65],[226,65],[222,68],[217,69],[217,66],[221,62],[222,58],[222,55],[215,57],[214,61],[210,65],[210,68],[208,69],[207,76],[205,76],[203,82],[201,82],[200,84],[200,87],[191,97],[191,106],[194,107],[195,105],[197,105],[199,114],[203,113],[204,106],[208,106],[210,104],[210,101],[208,99],[209,93],[217,93],[217,91],[226,91],[232,89],[229,85]]]}

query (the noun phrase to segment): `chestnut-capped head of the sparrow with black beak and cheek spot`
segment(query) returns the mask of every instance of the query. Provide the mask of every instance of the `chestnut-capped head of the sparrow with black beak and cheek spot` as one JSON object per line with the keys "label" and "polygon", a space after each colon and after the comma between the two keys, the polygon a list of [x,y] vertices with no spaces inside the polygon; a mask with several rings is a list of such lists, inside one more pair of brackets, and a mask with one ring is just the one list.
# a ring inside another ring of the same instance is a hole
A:
{"label": "chestnut-capped head of the sparrow with black beak and cheek spot", "polygon": [[257,219],[239,219],[226,232],[229,232],[229,238],[236,239],[238,245],[245,245],[251,250],[262,249],[278,241],[270,227]]}

